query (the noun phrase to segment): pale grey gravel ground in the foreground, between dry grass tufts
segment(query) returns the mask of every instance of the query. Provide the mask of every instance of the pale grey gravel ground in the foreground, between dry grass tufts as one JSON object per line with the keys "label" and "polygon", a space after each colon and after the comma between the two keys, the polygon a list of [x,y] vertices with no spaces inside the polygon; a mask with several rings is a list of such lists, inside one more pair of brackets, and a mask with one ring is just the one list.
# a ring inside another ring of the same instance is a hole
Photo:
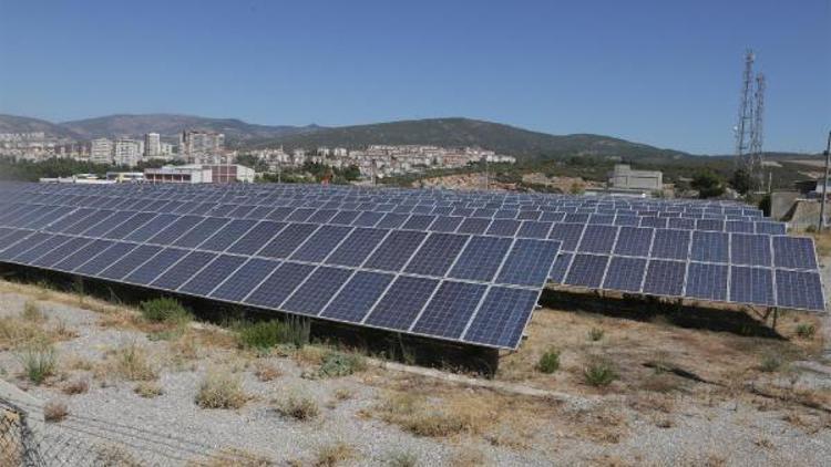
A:
{"label": "pale grey gravel ground in the foreground, between dry grass tufts", "polygon": [[[828,278],[825,283],[831,283]],[[0,292],[0,315],[19,313],[32,297]],[[165,342],[151,342],[134,330],[102,326],[102,315],[76,305],[39,302],[49,323],[59,320],[78,333],[78,338],[57,344],[60,355],[75,355],[100,361],[110,349],[136,343],[151,353],[170,357]],[[133,391],[135,383],[114,380],[100,384],[91,380],[90,391],[65,395],[61,383],[30,386],[18,376],[19,359],[10,351],[0,352],[3,378],[27,387],[43,401],[63,401],[72,416],[43,427],[44,452],[54,445],[81,443],[82,446],[113,444],[133,453],[142,464],[184,465],[204,459],[206,453],[243,449],[266,456],[278,465],[301,461],[314,464],[318,450],[334,443],[345,443],[357,455],[345,465],[390,465],[396,453],[409,453],[418,465],[828,465],[831,459],[831,422],[806,409],[799,415],[811,423],[800,426],[786,421],[793,408],[762,407],[745,399],[707,403],[691,394],[679,393],[670,413],[633,409],[628,396],[608,394],[602,404],[611,407],[622,421],[613,439],[585,436],[574,424],[558,417],[545,418],[525,448],[494,446],[482,436],[435,439],[413,436],[365,413],[378,404],[380,390],[367,375],[357,374],[331,380],[302,377],[304,366],[290,357],[269,356],[259,360],[279,369],[281,375],[259,381],[250,365],[233,351],[202,350],[194,364],[165,366],[160,377],[164,394],[142,398]],[[205,373],[223,365],[236,366],[244,377],[246,392],[254,396],[240,409],[203,409],[194,395]],[[373,377],[393,377],[373,369]],[[89,373],[72,371],[69,377]],[[831,387],[831,378],[818,373],[811,384]],[[105,378],[109,381],[109,378]],[[352,396],[330,405],[339,388]],[[459,391],[465,391],[460,388]],[[310,396],[321,414],[310,422],[287,419],[275,411],[271,401],[288,393]],[[592,413],[592,404],[563,407],[565,417]],[[657,415],[656,415],[657,414]],[[79,417],[79,418],[74,418]],[[819,419],[819,422],[817,422]],[[582,425],[586,430],[609,429],[603,419]],[[51,443],[51,446],[50,446]],[[75,448],[80,449],[80,448]],[[71,449],[68,449],[71,450]]]}

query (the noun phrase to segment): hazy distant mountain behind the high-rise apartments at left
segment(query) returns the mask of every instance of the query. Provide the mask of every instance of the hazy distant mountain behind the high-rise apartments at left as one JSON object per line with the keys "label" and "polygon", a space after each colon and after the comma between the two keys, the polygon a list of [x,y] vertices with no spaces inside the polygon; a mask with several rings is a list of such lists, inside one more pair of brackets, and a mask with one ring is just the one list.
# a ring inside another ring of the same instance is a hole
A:
{"label": "hazy distant mountain behind the high-rise apartments at left", "polygon": [[109,115],[60,124],[85,139],[95,137],[141,136],[155,132],[175,135],[185,129],[204,129],[225,134],[229,144],[244,144],[250,139],[279,137],[315,131],[317,126],[256,125],[236,118],[206,118],[193,115],[145,114]]}

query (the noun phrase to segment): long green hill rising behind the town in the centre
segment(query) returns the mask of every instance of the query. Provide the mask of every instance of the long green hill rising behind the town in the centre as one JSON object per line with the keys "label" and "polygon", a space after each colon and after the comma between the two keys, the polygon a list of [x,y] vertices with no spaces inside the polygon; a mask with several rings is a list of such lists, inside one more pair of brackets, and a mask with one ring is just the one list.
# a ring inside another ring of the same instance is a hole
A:
{"label": "long green hill rising behind the town in the centre", "polygon": [[609,136],[575,134],[555,136],[514,126],[470,118],[429,118],[371,125],[320,128],[259,142],[254,147],[284,145],[286,148],[370,144],[428,144],[437,146],[481,146],[520,159],[557,158],[573,155],[619,156],[663,159],[688,156]]}

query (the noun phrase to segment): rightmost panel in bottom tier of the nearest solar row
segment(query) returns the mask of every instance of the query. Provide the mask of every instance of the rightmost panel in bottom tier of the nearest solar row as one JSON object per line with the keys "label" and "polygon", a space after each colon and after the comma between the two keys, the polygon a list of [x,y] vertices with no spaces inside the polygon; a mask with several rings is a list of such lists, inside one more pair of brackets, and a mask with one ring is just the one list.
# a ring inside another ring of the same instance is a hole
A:
{"label": "rightmost panel in bottom tier of the nearest solar row", "polygon": [[515,349],[537,294],[535,290],[491,287],[462,340]]}

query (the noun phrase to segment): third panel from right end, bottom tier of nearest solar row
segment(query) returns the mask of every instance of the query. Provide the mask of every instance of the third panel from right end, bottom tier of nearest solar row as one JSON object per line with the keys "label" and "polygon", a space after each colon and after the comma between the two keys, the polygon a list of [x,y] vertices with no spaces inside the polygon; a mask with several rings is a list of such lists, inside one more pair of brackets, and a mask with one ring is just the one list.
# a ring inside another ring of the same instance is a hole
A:
{"label": "third panel from right end, bottom tier of nearest solar row", "polygon": [[398,277],[365,323],[386,329],[408,330],[438,284],[437,279]]}

